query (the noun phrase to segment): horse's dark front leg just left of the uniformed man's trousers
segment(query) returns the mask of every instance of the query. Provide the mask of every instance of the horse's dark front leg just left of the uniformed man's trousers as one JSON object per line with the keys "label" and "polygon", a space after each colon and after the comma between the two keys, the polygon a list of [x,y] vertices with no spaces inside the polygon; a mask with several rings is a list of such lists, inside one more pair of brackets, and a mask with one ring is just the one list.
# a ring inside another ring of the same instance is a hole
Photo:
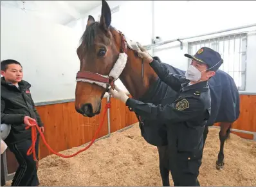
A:
{"label": "horse's dark front leg just left of the uniformed man's trousers", "polygon": [[169,159],[168,159],[168,147],[167,146],[158,146],[158,154],[159,154],[159,166],[160,166],[160,174],[163,186],[170,186],[169,182]]}

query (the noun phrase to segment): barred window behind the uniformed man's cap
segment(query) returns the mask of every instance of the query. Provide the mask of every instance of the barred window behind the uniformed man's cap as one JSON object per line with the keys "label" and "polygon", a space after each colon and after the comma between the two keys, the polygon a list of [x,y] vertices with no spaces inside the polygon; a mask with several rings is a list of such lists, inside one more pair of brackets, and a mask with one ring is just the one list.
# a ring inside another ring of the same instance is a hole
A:
{"label": "barred window behind the uniformed man's cap", "polygon": [[219,69],[232,76],[238,89],[244,91],[246,81],[247,33],[189,42],[188,51],[190,54],[195,54],[203,46],[212,48],[221,54],[224,63]]}

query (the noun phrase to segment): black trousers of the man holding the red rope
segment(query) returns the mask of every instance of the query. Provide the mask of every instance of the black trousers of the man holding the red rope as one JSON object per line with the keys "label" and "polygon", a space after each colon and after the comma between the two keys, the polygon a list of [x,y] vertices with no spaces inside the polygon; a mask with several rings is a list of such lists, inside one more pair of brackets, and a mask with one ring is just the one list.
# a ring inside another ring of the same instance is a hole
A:
{"label": "black trousers of the man holding the red rope", "polygon": [[[32,145],[31,139],[26,139],[20,143],[15,143],[8,146],[10,151],[14,153],[19,167],[15,172],[12,186],[39,186],[39,179],[37,177],[37,166],[33,160],[33,154],[30,156],[26,155],[26,152]],[[39,150],[39,137],[35,143],[35,152],[38,159]]]}

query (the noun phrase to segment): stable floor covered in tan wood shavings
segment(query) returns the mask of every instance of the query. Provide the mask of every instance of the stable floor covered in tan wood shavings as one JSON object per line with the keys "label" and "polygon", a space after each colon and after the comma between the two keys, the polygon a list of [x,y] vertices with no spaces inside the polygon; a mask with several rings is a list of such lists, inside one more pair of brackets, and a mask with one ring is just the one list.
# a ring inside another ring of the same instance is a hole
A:
{"label": "stable floor covered in tan wood shavings", "polygon": [[[256,143],[231,134],[224,146],[224,168],[216,170],[218,133],[219,129],[210,129],[206,139],[199,174],[201,186],[256,186]],[[81,148],[61,153],[69,155]],[[38,173],[41,186],[161,186],[158,161],[157,148],[142,138],[135,124],[110,138],[100,139],[70,159],[41,159]]]}

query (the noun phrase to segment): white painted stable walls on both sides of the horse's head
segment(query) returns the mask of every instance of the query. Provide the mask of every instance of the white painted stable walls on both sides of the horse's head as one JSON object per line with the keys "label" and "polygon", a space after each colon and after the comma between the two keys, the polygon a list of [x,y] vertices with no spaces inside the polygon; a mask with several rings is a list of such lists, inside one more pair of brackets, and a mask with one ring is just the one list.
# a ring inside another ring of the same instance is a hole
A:
{"label": "white painted stable walls on both sides of the horse's head", "polygon": [[[152,1],[108,3],[111,8],[120,5],[120,12],[113,14],[113,26],[143,45],[150,44],[153,35],[169,40],[256,23],[255,1],[154,1],[154,30]],[[98,6],[87,15],[98,19],[100,11],[101,6]],[[68,27],[1,7],[1,60],[14,58],[23,64],[24,80],[32,84],[35,102],[75,98],[75,75],[80,65],[76,50],[86,27],[87,15],[77,22],[70,22]],[[187,53],[187,45],[183,50],[179,49],[178,42],[169,45],[171,49],[154,55],[163,62],[186,69],[188,61],[184,53]],[[247,50],[245,92],[256,93],[255,32],[248,36]],[[116,84],[125,89],[121,82]]]}

